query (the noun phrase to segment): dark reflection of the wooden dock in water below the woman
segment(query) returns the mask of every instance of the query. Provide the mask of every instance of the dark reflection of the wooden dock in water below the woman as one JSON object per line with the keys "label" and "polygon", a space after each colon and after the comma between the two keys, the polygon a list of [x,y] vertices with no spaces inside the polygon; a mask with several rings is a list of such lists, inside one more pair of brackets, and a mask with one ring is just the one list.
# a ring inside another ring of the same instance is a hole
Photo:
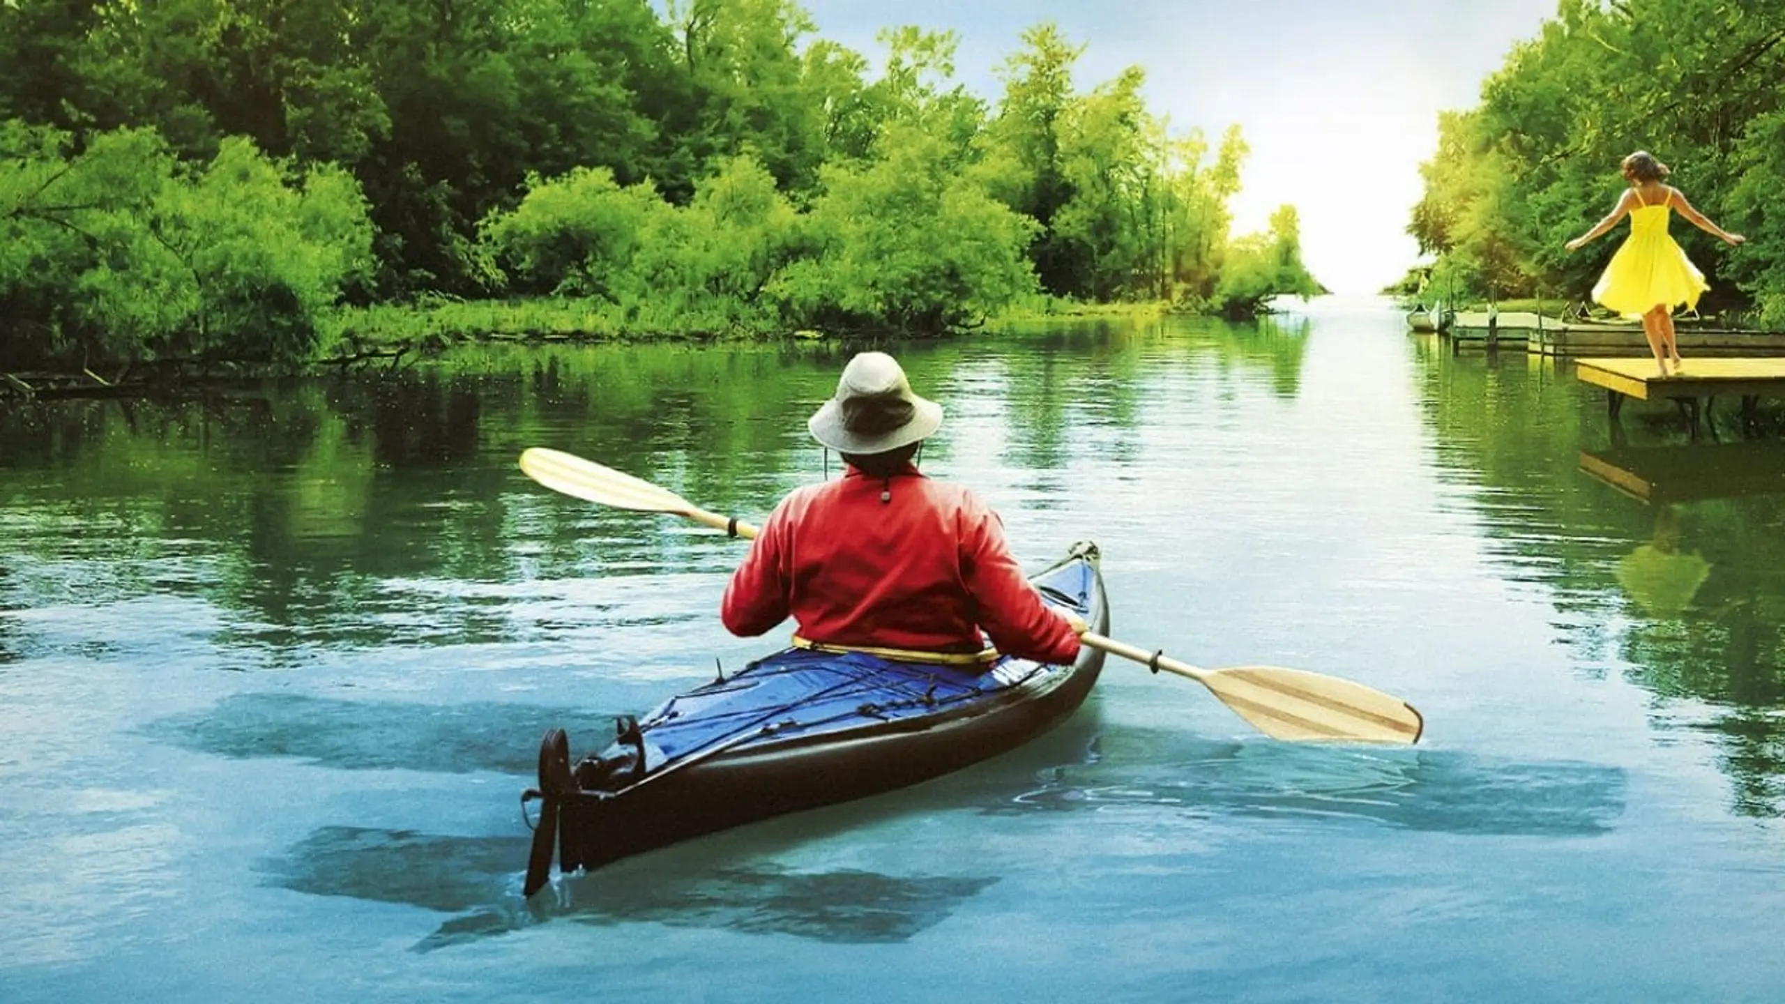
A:
{"label": "dark reflection of the wooden dock in water below the woman", "polygon": [[1582,450],[1580,470],[1653,506],[1739,495],[1785,495],[1785,445],[1764,439]]}

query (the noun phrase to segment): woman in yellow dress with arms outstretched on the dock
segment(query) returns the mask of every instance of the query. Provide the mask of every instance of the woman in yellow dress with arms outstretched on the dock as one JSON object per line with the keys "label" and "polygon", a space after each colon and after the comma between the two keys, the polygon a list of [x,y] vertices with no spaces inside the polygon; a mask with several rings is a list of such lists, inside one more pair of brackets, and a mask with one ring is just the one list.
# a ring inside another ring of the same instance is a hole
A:
{"label": "woman in yellow dress with arms outstretched on the dock", "polygon": [[1680,373],[1680,347],[1674,341],[1673,309],[1678,305],[1696,307],[1698,295],[1708,289],[1705,273],[1685,257],[1680,245],[1667,236],[1667,211],[1678,209],[1694,227],[1714,234],[1733,245],[1746,241],[1740,234],[1730,234],[1712,223],[1703,213],[1692,209],[1678,188],[1662,184],[1667,177],[1667,164],[1655,159],[1648,150],[1637,150],[1624,157],[1624,180],[1630,189],[1619,197],[1617,205],[1605,220],[1594,223],[1590,230],[1567,243],[1574,250],[1599,234],[1617,225],[1630,214],[1630,236],[1605,266],[1605,275],[1592,286],[1592,298],[1626,318],[1642,318],[1642,334],[1655,352],[1655,364],[1667,375],[1667,364]]}

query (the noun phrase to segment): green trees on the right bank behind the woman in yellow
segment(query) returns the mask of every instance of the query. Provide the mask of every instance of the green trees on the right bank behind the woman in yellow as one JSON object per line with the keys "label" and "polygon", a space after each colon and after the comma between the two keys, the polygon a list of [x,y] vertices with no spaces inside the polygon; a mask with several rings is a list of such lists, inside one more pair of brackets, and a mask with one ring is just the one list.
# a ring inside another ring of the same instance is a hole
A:
{"label": "green trees on the right bank behind the woman in yellow", "polygon": [[1482,104],[1446,113],[1408,232],[1444,289],[1583,300],[1615,236],[1569,255],[1617,200],[1619,161],[1649,150],[1692,204],[1748,245],[1674,234],[1712,280],[1710,309],[1785,322],[1785,5],[1562,0]]}

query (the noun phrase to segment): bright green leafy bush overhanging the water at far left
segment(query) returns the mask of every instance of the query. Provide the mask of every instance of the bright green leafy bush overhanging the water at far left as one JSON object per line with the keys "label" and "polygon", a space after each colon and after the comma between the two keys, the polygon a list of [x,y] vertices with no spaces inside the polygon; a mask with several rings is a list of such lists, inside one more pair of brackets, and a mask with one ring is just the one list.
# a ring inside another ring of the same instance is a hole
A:
{"label": "bright green leafy bush overhanging the water at far left", "polygon": [[328,307],[371,268],[359,186],[245,138],[177,161],[152,130],[0,123],[0,363],[289,361],[323,352]]}

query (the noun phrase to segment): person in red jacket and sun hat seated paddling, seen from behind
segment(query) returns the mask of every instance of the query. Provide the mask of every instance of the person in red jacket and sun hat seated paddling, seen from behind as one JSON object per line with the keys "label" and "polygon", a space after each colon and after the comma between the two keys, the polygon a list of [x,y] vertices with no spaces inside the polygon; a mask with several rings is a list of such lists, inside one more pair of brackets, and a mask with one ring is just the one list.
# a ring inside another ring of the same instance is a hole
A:
{"label": "person in red jacket and sun hat seated paddling, seen from behind", "polygon": [[789,493],[732,573],[719,616],[764,634],[789,616],[814,647],[1078,657],[1083,620],[1048,607],[1003,523],[973,491],[917,472],[942,407],[917,397],[885,352],[850,359],[837,393],[807,420],[843,456],[841,479]]}

